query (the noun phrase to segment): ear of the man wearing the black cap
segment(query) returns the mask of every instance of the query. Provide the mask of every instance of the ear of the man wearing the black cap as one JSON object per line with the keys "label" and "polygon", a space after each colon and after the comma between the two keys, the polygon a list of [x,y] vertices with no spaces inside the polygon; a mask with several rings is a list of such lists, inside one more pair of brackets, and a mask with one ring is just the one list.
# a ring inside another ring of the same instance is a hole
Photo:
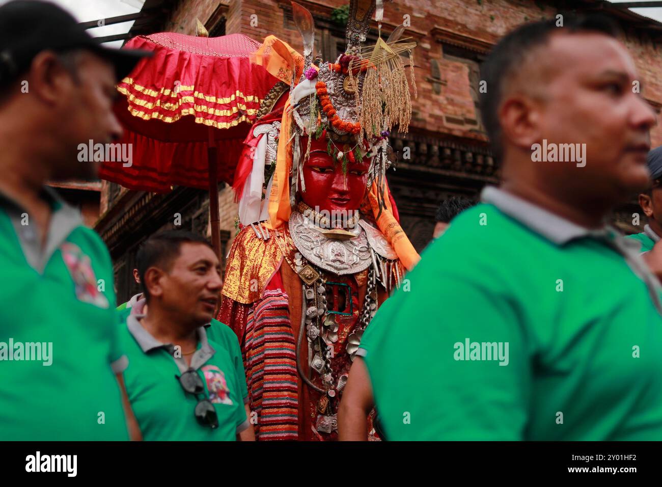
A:
{"label": "ear of the man wearing the black cap", "polygon": [[71,90],[75,89],[71,73],[58,60],[57,54],[50,50],[34,56],[28,82],[29,93],[50,106],[66,102]]}

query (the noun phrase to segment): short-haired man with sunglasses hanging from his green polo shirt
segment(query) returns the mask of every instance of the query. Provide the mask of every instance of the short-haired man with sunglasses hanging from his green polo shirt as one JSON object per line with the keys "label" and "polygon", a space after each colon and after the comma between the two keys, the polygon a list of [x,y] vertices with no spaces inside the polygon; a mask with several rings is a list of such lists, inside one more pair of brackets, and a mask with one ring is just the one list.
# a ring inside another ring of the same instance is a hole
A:
{"label": "short-haired man with sunglasses hanging from his green polo shirt", "polygon": [[120,327],[120,343],[144,439],[252,441],[239,342],[212,319],[222,282],[211,244],[166,231],[145,241],[137,260],[144,299]]}

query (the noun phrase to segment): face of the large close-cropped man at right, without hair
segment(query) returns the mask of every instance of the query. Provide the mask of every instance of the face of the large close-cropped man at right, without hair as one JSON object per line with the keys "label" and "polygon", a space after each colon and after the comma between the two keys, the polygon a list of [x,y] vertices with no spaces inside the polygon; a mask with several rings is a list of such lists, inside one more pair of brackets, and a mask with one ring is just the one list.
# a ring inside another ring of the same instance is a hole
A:
{"label": "face of the large close-cropped man at right, without hair", "polygon": [[655,114],[636,92],[641,78],[625,46],[597,33],[553,34],[526,65],[532,78],[522,74],[520,84],[542,97],[528,113],[529,142],[586,144],[585,166],[531,162],[537,177],[557,192],[614,203],[644,189]]}

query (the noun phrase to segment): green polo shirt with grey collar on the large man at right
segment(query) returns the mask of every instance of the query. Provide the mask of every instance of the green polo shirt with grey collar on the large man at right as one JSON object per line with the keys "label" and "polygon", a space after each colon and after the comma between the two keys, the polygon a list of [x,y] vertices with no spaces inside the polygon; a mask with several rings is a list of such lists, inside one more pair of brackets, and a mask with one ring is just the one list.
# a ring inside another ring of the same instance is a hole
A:
{"label": "green polo shirt with grey collar on the large man at right", "polygon": [[661,440],[662,305],[638,244],[482,197],[363,335],[387,439]]}

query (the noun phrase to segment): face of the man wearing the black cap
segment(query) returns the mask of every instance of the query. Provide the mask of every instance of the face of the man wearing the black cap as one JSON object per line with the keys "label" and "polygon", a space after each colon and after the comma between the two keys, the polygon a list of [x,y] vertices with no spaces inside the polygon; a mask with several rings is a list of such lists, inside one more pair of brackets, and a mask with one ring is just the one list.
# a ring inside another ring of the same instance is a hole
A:
{"label": "face of the man wearing the black cap", "polygon": [[57,133],[64,157],[58,158],[55,179],[96,178],[101,163],[89,153],[87,161],[79,161],[78,144],[89,145],[89,140],[106,144],[122,135],[112,109],[117,96],[113,66],[87,51],[79,53],[76,65],[78,82],[70,77],[70,85],[63,89],[66,99],[58,107]]}

